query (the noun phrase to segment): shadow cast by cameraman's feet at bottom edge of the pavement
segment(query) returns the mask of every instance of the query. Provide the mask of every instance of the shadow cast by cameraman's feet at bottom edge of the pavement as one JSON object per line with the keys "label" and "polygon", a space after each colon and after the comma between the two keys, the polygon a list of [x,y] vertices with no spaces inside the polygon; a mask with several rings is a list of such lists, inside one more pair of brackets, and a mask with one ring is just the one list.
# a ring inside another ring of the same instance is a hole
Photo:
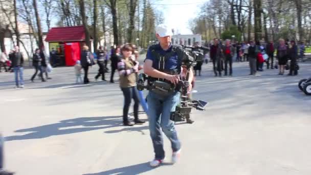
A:
{"label": "shadow cast by cameraman's feet at bottom edge of the pavement", "polygon": [[[172,165],[171,163],[163,163],[161,166],[167,166],[167,165]],[[152,168],[149,166],[149,162],[146,163],[140,163],[137,165],[131,165],[131,166],[126,166],[122,168],[116,168],[116,169],[111,169],[103,172],[97,172],[97,173],[88,173],[88,174],[83,174],[83,175],[108,175],[108,174],[126,174],[126,175],[136,175],[136,174],[141,174],[147,171],[150,171]]]}

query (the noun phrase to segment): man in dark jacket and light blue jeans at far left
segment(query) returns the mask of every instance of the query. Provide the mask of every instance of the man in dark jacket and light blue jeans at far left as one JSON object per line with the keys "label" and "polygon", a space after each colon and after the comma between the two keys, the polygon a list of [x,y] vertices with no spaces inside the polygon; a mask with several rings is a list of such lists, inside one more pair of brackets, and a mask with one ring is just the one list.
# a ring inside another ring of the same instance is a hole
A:
{"label": "man in dark jacket and light blue jeans at far left", "polygon": [[[24,57],[23,54],[19,52],[19,47],[14,47],[14,52],[10,55],[12,60],[12,68],[15,75],[15,88],[24,88]],[[19,75],[19,80],[18,80]]]}

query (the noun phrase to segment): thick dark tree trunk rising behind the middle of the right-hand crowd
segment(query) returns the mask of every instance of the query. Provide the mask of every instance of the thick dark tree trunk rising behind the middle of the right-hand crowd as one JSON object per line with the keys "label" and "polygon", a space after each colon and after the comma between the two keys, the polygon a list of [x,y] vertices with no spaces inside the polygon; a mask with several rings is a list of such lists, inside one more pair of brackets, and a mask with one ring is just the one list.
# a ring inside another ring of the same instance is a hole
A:
{"label": "thick dark tree trunk rising behind the middle of the right-hand crowd", "polygon": [[255,41],[260,41],[261,32],[261,0],[254,0],[254,25],[255,25]]}

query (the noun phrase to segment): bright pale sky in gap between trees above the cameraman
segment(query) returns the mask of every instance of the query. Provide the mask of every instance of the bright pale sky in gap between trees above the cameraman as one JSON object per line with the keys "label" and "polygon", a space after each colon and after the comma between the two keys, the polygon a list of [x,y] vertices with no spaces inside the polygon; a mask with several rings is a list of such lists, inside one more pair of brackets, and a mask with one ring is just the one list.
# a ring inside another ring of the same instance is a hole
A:
{"label": "bright pale sky in gap between trees above the cameraman", "polygon": [[163,12],[164,23],[180,34],[192,34],[189,20],[199,13],[199,6],[207,0],[162,0],[154,4]]}

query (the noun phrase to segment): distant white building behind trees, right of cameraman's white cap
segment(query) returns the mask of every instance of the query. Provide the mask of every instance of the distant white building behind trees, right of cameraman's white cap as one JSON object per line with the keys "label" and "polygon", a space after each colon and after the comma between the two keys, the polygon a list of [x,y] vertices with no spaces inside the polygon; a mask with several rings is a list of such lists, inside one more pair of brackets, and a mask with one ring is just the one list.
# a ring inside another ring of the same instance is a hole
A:
{"label": "distant white building behind trees, right of cameraman's white cap", "polygon": [[193,34],[193,35],[173,35],[172,43],[193,46],[195,42],[198,42],[199,45],[202,45],[202,35]]}

